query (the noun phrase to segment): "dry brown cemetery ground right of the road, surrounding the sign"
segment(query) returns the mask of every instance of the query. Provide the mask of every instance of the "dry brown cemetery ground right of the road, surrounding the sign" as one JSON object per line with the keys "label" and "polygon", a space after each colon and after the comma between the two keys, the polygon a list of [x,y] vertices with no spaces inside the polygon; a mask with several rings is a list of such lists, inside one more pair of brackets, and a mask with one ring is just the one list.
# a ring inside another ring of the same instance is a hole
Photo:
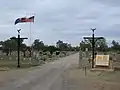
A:
{"label": "dry brown cemetery ground right of the road, surrounding the sign", "polygon": [[80,66],[74,65],[66,71],[64,90],[120,90],[120,54],[108,53],[114,58],[115,71],[90,71],[90,56],[82,54]]}

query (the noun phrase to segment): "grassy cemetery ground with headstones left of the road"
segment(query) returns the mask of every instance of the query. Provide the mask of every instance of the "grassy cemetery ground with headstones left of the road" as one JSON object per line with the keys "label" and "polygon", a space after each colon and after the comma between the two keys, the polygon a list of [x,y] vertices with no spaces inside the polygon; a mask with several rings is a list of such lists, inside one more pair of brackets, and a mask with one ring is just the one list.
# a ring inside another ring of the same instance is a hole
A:
{"label": "grassy cemetery ground with headstones left of the road", "polygon": [[[23,53],[20,52],[20,68],[19,69],[28,69],[30,67],[41,66],[47,62],[58,60],[59,58],[71,55],[75,52],[60,52],[59,55],[56,55],[54,52],[52,55],[50,52],[34,52],[32,57],[24,57]],[[11,55],[6,55],[3,52],[0,52],[0,71],[9,71],[18,69],[17,68],[18,57],[17,51],[12,52]]]}

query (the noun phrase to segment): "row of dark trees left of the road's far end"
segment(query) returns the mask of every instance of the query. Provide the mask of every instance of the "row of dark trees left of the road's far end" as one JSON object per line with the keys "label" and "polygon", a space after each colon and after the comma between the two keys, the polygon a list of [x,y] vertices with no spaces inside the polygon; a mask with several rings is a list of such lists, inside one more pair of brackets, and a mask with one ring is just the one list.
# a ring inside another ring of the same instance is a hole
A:
{"label": "row of dark trees left of the road's far end", "polygon": [[[15,38],[15,37],[11,37]],[[7,39],[5,41],[0,41],[0,49],[6,53],[6,55],[11,54],[12,51],[17,51],[17,39]],[[40,39],[34,40],[31,47],[23,43],[24,40],[20,41],[20,50],[25,52],[26,50],[35,50],[35,51],[49,51],[51,54],[55,51],[79,51],[79,47],[72,47],[69,43],[64,43],[61,40],[58,40],[55,45],[45,45]]]}

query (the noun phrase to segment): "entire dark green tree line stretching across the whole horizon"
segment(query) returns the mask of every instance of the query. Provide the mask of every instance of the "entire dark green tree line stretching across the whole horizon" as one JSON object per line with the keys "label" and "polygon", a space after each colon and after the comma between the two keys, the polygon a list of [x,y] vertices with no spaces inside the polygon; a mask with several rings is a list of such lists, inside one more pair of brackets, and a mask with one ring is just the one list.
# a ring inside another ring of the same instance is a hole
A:
{"label": "entire dark green tree line stretching across the whole horizon", "polygon": [[[15,38],[15,37],[11,37]],[[17,51],[17,39],[7,39],[5,41],[0,41],[0,50],[6,53],[6,55],[11,54],[12,51]],[[29,46],[23,43],[24,40],[21,39],[20,41],[20,50],[25,52],[26,50],[31,50]],[[97,40],[95,43],[95,50],[100,52],[107,52],[107,51],[118,51],[120,52],[120,44],[119,42],[113,40],[112,46],[108,47],[106,39]],[[88,48],[88,51],[91,51],[92,40],[82,40],[80,42],[80,47],[76,46],[73,47],[69,43],[65,43],[61,40],[58,40],[55,45],[45,45],[44,42],[40,39],[34,40],[32,43],[32,49],[35,51],[49,51],[51,54],[55,51],[79,51],[80,48],[82,51],[85,51]]]}

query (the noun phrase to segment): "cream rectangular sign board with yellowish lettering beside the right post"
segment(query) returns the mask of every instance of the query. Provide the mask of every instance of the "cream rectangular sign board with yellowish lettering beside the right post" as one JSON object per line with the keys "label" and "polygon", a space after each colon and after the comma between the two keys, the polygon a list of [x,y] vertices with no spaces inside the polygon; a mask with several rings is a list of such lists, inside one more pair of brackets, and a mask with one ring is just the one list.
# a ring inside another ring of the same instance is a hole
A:
{"label": "cream rectangular sign board with yellowish lettering beside the right post", "polygon": [[109,66],[109,55],[96,55],[95,65]]}

